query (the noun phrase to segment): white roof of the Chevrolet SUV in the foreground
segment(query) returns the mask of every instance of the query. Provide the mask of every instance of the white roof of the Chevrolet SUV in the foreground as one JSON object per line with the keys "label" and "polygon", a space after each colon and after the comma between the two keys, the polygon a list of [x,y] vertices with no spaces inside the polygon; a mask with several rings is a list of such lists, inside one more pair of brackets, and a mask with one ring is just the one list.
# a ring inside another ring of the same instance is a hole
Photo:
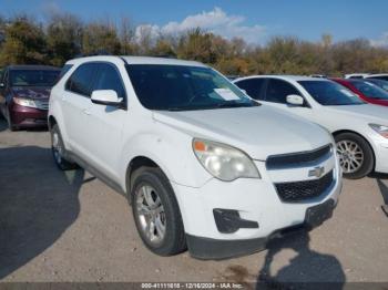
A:
{"label": "white roof of the Chevrolet SUV in the foreground", "polygon": [[127,64],[166,64],[166,65],[186,65],[186,66],[202,66],[207,68],[205,64],[196,61],[184,61],[169,58],[153,58],[153,56],[129,56],[129,55],[96,55],[79,58],[68,61],[68,64],[80,64],[92,61],[118,61],[124,60]]}

